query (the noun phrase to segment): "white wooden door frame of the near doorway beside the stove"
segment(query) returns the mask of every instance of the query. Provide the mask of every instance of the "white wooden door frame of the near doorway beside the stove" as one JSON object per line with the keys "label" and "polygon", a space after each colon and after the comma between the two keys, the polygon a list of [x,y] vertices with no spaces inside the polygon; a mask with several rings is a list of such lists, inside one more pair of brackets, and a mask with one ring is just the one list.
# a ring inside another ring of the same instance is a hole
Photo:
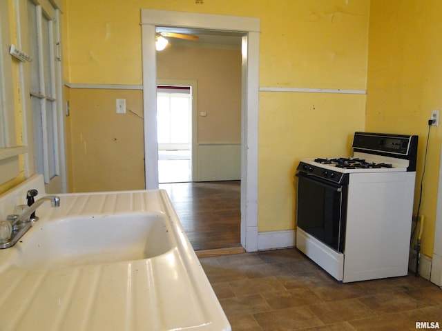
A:
{"label": "white wooden door frame of the near doorway beside the stove", "polygon": [[158,188],[155,27],[243,32],[241,245],[258,250],[258,97],[260,19],[142,9],[144,157],[146,189]]}

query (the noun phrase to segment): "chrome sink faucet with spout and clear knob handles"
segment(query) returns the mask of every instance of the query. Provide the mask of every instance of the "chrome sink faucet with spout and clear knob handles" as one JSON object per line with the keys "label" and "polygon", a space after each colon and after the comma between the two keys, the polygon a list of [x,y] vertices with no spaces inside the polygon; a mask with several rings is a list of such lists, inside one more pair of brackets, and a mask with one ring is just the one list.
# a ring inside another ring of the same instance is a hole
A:
{"label": "chrome sink faucet with spout and clear knob handles", "polygon": [[55,195],[50,195],[38,199],[35,203],[30,205],[27,210],[19,215],[8,215],[8,221],[0,221],[0,248],[8,248],[17,243],[23,234],[25,234],[32,226],[32,222],[30,221],[31,214],[46,201],[50,201],[52,207],[60,206],[60,198]]}

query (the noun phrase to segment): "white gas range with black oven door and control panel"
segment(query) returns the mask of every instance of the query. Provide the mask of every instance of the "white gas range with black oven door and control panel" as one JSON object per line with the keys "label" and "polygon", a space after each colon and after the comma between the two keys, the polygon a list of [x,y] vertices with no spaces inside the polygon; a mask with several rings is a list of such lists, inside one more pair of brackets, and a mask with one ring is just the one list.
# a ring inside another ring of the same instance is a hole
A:
{"label": "white gas range with black oven door and control panel", "polygon": [[302,159],[296,247],[339,281],[406,275],[417,141],[355,132],[352,157]]}

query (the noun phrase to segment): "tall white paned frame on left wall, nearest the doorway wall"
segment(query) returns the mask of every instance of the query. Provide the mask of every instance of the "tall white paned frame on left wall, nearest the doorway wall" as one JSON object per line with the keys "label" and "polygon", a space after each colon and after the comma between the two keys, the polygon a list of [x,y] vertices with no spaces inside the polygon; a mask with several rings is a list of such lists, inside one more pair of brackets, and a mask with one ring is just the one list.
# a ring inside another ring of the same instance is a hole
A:
{"label": "tall white paned frame on left wall, nearest the doorway wall", "polygon": [[28,37],[32,62],[30,63],[30,96],[35,141],[35,167],[44,174],[46,183],[57,176],[59,170],[59,126],[57,111],[59,86],[57,86],[56,56],[60,46],[58,10],[43,8],[28,0]]}

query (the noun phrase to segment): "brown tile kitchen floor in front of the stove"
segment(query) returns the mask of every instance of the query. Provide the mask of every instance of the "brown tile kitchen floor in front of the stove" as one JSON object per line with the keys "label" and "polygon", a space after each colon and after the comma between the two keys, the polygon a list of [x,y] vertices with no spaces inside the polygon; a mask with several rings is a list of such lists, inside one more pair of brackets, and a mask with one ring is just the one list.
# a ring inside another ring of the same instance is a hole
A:
{"label": "brown tile kitchen floor in front of the stove", "polygon": [[442,330],[442,290],[414,274],[339,283],[294,248],[200,261],[233,331]]}

